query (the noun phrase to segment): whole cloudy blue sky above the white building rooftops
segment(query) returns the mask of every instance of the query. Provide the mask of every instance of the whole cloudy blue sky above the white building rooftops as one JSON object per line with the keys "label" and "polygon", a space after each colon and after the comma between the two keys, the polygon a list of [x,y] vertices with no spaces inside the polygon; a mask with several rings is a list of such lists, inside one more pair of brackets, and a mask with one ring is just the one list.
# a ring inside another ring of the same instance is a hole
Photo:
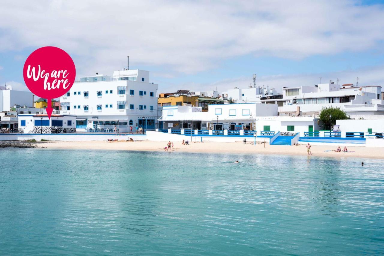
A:
{"label": "whole cloudy blue sky above the white building rooftops", "polygon": [[150,71],[159,92],[384,86],[384,0],[0,1],[0,86],[28,90],[23,65],[65,50],[76,77]]}

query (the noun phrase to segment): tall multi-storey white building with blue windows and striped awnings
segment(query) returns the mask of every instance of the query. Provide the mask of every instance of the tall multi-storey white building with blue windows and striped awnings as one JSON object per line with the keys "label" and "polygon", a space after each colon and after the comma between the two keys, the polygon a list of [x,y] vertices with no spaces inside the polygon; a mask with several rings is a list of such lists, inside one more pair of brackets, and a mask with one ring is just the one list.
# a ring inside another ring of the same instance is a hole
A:
{"label": "tall multi-storey white building with blue windows and striped awnings", "polygon": [[149,83],[149,71],[119,70],[106,75],[81,77],[60,97],[63,115],[76,115],[76,128],[129,131],[132,126],[154,130],[157,123],[158,85]]}

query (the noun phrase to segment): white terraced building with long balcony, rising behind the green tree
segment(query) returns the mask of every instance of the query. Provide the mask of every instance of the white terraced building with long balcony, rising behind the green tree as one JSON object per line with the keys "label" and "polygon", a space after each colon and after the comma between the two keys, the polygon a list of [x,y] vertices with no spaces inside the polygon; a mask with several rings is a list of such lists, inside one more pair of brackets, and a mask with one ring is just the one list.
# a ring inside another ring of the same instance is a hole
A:
{"label": "white terraced building with long balcony, rising behind the green tree", "polygon": [[340,107],[351,118],[383,115],[381,86],[355,87],[353,84],[325,83],[283,88],[281,98],[265,98],[262,103],[279,105],[279,115],[319,115],[323,107]]}

